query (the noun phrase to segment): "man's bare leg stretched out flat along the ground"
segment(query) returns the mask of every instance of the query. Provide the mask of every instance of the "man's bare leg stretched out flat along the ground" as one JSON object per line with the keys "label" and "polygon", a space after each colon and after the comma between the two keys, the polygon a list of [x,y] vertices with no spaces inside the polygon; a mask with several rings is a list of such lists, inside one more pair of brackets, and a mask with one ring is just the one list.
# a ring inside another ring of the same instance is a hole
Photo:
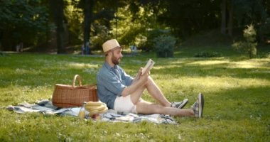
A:
{"label": "man's bare leg stretched out flat along the ground", "polygon": [[173,107],[163,107],[160,104],[152,104],[141,100],[136,104],[138,114],[169,114],[173,116],[194,116],[192,109],[177,109]]}

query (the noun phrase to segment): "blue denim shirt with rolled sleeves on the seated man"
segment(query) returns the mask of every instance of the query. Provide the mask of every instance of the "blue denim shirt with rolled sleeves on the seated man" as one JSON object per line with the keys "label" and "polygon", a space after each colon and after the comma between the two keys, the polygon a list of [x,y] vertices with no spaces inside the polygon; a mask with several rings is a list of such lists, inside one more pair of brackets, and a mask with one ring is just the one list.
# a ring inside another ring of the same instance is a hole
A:
{"label": "blue denim shirt with rolled sleeves on the seated man", "polygon": [[124,72],[119,65],[111,67],[104,62],[97,72],[97,94],[100,101],[107,104],[109,109],[114,109],[114,101],[125,87],[131,85],[133,78]]}

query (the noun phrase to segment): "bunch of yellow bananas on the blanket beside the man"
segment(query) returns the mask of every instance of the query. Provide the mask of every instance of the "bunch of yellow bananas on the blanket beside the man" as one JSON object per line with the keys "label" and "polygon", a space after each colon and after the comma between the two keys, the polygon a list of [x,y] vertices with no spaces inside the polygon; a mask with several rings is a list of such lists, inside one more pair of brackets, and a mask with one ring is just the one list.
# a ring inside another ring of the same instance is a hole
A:
{"label": "bunch of yellow bananas on the blanket beside the man", "polygon": [[103,102],[87,102],[85,109],[89,111],[89,115],[102,114],[108,110],[107,105]]}

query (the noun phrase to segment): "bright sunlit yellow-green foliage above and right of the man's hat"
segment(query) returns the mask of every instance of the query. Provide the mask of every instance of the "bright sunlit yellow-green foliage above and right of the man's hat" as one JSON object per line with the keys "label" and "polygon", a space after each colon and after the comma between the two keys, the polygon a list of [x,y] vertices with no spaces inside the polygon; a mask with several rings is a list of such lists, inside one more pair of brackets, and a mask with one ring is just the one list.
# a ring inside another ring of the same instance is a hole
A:
{"label": "bright sunlit yellow-green foliage above and right of the man's hat", "polygon": [[155,34],[156,31],[166,28],[157,21],[158,15],[163,11],[158,2],[126,2],[126,5],[118,8],[115,14],[117,18],[111,21],[111,33],[124,45],[136,45],[142,50],[152,50],[153,39],[159,35]]}

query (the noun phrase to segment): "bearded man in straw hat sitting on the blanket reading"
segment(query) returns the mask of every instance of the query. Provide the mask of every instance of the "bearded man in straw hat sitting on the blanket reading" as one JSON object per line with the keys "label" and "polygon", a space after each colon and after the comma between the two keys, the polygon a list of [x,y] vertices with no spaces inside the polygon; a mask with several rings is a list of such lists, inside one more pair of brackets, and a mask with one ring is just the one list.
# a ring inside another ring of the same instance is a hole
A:
{"label": "bearded man in straw hat sitting on the blanket reading", "polygon": [[[188,99],[183,102],[168,102],[161,90],[150,77],[147,71],[141,74],[139,70],[135,78],[130,77],[119,67],[123,55],[121,46],[117,40],[107,40],[102,45],[105,62],[97,73],[97,92],[99,99],[107,104],[109,109],[119,112],[136,114],[169,114],[173,116],[195,116],[202,117],[204,99],[202,94],[198,95],[197,101],[190,109],[182,109]],[[153,104],[141,99],[141,95],[147,89],[148,93],[156,99],[159,104]]]}

